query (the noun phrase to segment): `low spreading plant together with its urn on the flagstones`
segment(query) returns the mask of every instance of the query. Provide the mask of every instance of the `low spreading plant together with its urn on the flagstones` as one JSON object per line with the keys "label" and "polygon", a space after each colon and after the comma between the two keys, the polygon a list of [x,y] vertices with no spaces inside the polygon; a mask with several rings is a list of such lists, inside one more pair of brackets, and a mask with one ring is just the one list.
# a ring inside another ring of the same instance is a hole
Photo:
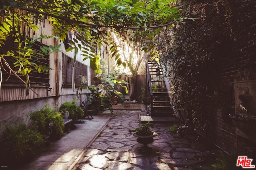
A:
{"label": "low spreading plant together with its urn on the flagstones", "polygon": [[157,135],[156,132],[150,130],[150,127],[154,128],[153,123],[146,123],[140,127],[136,127],[130,131],[135,132],[133,135],[137,137],[137,142],[143,144],[143,147],[140,148],[142,152],[150,152],[151,148],[148,147],[148,144],[153,143],[155,137]]}

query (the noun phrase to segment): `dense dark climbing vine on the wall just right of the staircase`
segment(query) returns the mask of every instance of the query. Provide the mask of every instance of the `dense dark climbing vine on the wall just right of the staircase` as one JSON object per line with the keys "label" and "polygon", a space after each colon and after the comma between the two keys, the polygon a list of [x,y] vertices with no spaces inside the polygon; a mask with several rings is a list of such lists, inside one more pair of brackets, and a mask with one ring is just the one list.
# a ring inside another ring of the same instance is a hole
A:
{"label": "dense dark climbing vine on the wall just right of the staircase", "polygon": [[157,49],[170,80],[170,93],[176,99],[173,106],[181,121],[210,135],[213,117],[208,104],[218,93],[212,85],[218,79],[218,61],[232,60],[232,55],[227,54],[236,44],[238,31],[252,21],[241,14],[248,16],[250,11],[245,9],[255,3],[190,0],[183,5],[188,7],[186,12],[193,20],[177,23],[156,35]]}

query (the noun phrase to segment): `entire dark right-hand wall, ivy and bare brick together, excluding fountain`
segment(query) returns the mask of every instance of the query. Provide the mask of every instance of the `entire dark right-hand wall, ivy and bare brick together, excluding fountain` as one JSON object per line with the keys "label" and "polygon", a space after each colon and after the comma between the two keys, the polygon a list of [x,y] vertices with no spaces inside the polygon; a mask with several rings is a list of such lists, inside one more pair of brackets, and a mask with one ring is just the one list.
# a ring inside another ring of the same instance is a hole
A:
{"label": "entire dark right-hand wall, ivy and bare brick together, excluding fountain", "polygon": [[256,68],[256,2],[186,3],[194,20],[156,36],[160,62],[177,99],[174,107],[186,115],[184,123],[226,152],[246,154],[255,144],[236,135],[228,115],[234,113],[238,69]]}

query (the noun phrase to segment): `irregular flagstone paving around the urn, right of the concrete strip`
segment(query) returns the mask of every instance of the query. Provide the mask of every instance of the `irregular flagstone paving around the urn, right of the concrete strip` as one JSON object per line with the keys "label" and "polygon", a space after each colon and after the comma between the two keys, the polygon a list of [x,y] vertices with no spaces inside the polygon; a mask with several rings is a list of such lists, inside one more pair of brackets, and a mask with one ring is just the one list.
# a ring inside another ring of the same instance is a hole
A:
{"label": "irregular flagstone paving around the urn, right of the concrete strip", "polygon": [[73,170],[198,170],[210,168],[207,157],[214,154],[195,138],[168,133],[170,125],[156,125],[158,135],[149,144],[151,152],[129,129],[140,126],[140,112],[117,111],[100,135],[88,145]]}

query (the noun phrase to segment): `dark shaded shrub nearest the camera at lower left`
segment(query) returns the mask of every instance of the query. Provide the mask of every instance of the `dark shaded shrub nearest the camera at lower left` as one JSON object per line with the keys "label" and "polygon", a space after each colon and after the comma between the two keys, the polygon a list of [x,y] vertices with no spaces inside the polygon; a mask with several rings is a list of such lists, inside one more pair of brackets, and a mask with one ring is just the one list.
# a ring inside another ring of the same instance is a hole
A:
{"label": "dark shaded shrub nearest the camera at lower left", "polygon": [[44,145],[44,136],[27,127],[6,125],[3,134],[4,162],[27,162]]}

